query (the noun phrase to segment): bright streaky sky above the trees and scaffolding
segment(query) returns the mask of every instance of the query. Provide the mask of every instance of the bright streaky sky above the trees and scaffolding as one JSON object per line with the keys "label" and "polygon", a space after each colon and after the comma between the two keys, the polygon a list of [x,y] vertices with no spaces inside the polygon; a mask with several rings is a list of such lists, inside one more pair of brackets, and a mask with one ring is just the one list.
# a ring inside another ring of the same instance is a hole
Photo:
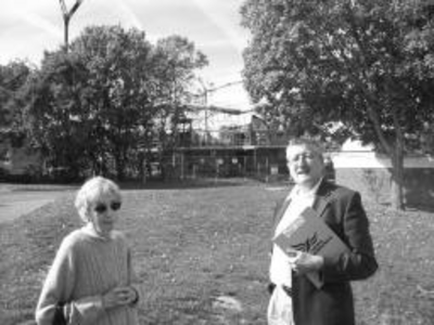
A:
{"label": "bright streaky sky above the trees and scaffolding", "polygon": [[[1,0],[0,64],[27,60],[39,65],[43,51],[63,44],[63,17],[59,0]],[[76,0],[66,0],[69,9]],[[221,88],[209,103],[247,109],[241,83],[242,51],[248,30],[241,27],[243,0],[84,0],[69,23],[69,41],[86,26],[120,25],[143,30],[146,39],[180,35],[193,41],[209,65],[201,77],[207,89]],[[227,84],[231,84],[225,87]]]}

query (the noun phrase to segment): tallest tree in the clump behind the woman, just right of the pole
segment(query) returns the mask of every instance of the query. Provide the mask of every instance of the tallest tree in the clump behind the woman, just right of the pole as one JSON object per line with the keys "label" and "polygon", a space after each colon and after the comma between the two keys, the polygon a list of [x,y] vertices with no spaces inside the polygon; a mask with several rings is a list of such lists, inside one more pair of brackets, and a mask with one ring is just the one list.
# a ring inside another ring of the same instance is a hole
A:
{"label": "tallest tree in the clump behind the woman, just right of the pole", "polygon": [[100,26],[86,28],[71,51],[81,57],[90,74],[89,109],[104,141],[95,154],[102,161],[112,157],[117,176],[124,178],[155,115],[152,46],[137,29]]}

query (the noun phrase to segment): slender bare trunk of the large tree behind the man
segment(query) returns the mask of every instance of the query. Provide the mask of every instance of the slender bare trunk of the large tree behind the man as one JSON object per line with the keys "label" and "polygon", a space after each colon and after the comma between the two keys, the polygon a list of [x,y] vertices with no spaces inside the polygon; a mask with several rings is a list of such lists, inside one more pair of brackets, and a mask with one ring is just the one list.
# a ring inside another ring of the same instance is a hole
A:
{"label": "slender bare trunk of the large tree behind the man", "polygon": [[391,182],[391,204],[394,209],[404,210],[404,151],[399,145],[391,157],[392,159],[392,182]]}

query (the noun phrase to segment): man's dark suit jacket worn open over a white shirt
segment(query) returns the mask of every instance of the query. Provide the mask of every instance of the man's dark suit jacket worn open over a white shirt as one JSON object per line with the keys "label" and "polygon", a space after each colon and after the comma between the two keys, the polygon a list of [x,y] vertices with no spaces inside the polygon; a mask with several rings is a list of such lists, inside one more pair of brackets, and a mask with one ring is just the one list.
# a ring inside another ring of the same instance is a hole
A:
{"label": "man's dark suit jacket worn open over a white shirt", "polygon": [[[286,205],[278,204],[273,233]],[[324,260],[317,289],[304,275],[293,273],[292,297],[296,325],[354,325],[354,302],[349,282],[365,280],[378,269],[369,221],[359,193],[322,181],[314,209],[350,248],[350,252]]]}

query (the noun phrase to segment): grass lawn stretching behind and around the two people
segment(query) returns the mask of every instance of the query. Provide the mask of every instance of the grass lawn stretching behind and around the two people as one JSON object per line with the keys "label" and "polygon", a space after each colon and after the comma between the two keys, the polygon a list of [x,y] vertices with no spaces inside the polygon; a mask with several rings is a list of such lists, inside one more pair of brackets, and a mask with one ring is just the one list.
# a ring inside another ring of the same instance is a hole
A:
{"label": "grass lawn stretching behind and around the two people", "polygon": [[[266,324],[271,210],[261,183],[128,190],[119,227],[146,299],[142,324]],[[358,325],[433,324],[433,213],[365,202],[379,272],[354,284]],[[46,272],[79,225],[72,194],[0,225],[0,324],[34,317]]]}

